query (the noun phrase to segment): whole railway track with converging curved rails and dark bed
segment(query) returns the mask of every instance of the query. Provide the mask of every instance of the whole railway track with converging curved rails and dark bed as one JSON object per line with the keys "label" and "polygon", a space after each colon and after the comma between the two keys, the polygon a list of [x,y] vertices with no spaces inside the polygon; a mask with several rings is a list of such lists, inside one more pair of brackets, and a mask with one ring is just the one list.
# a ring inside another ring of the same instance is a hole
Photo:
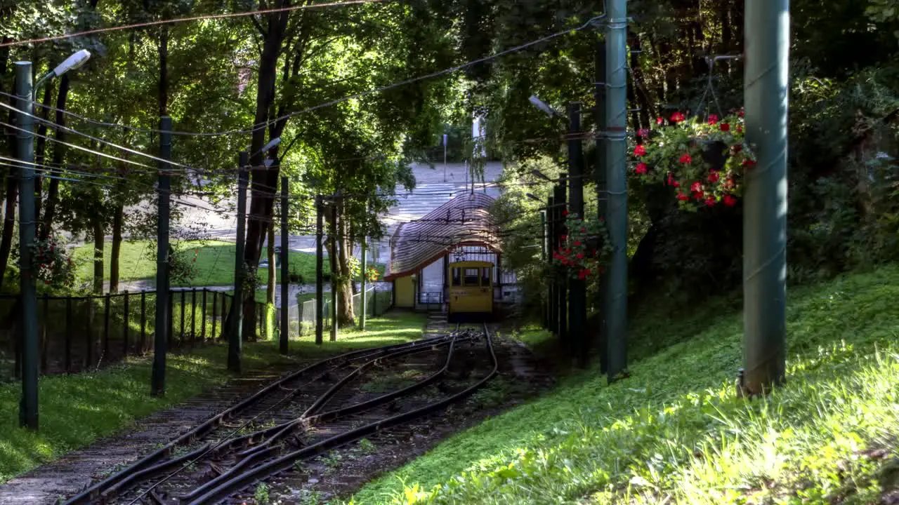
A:
{"label": "whole railway track with converging curved rails and dark bed", "polygon": [[[481,342],[481,358],[488,360],[490,372],[449,380],[454,355],[475,352]],[[432,372],[422,377],[418,368]],[[325,359],[281,377],[66,503],[227,501],[334,447],[461,401],[485,385],[497,369],[486,325],[480,332],[459,330],[457,325],[453,332],[421,341]],[[414,380],[406,380],[402,387],[365,390],[369,383],[362,379],[367,374],[380,371],[401,377],[410,370],[416,372]]]}

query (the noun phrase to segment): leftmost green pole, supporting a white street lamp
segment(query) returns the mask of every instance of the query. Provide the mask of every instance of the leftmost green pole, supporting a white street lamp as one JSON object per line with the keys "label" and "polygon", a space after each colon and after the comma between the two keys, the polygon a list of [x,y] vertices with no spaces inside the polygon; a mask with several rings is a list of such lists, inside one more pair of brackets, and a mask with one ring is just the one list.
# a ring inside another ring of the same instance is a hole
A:
{"label": "leftmost green pole, supporting a white street lamp", "polygon": [[38,297],[31,269],[34,246],[34,137],[31,62],[15,62],[15,94],[18,126],[16,143],[19,160],[19,269],[22,297],[22,403],[19,424],[38,429]]}

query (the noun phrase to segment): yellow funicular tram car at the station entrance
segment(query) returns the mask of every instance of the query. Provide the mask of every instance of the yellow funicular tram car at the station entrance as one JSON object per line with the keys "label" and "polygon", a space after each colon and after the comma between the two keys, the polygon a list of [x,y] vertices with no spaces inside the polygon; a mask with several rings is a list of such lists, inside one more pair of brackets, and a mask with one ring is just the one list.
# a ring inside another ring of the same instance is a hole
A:
{"label": "yellow funicular tram car at the station entrance", "polygon": [[494,315],[494,263],[456,261],[449,263],[447,319],[483,321]]}

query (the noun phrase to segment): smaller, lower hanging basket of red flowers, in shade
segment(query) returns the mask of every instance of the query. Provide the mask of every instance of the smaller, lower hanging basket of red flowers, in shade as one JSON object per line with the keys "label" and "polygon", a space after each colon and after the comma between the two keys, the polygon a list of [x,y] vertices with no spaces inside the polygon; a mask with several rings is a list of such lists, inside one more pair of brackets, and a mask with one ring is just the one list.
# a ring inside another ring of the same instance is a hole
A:
{"label": "smaller, lower hanging basket of red flowers, in shade", "polygon": [[605,221],[565,211],[565,229],[553,251],[553,265],[571,279],[591,279],[605,271],[612,252]]}

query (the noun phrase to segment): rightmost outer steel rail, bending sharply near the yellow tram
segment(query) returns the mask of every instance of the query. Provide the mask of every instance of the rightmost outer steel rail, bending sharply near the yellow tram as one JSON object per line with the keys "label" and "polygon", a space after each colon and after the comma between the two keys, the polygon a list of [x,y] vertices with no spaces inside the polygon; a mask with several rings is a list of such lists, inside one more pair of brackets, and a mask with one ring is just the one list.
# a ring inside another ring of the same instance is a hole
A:
{"label": "rightmost outer steel rail, bending sharply near the yellow tram", "polygon": [[484,334],[487,351],[490,354],[491,361],[493,362],[493,368],[486,377],[477,381],[474,385],[470,385],[465,390],[457,394],[448,396],[447,398],[444,398],[439,402],[425,405],[421,408],[414,409],[413,411],[403,412],[381,421],[371,422],[353,430],[344,431],[343,433],[335,435],[334,437],[331,437],[329,439],[322,440],[311,446],[301,448],[299,450],[273,459],[269,462],[263,463],[262,465],[258,465],[243,474],[236,475],[233,478],[228,479],[226,482],[219,484],[214,489],[209,490],[209,492],[206,492],[196,500],[191,501],[191,505],[218,503],[218,501],[227,499],[227,497],[231,496],[235,492],[244,489],[246,486],[256,481],[270,477],[274,474],[278,474],[284,470],[291,468],[294,465],[294,462],[301,458],[316,456],[327,449],[342,446],[343,444],[351,442],[355,439],[360,439],[361,437],[374,433],[378,430],[383,430],[385,428],[395,426],[406,421],[411,421],[430,412],[436,412],[438,410],[441,410],[443,407],[446,407],[450,403],[455,403],[458,400],[466,398],[468,395],[474,393],[477,389],[481,388],[490,379],[492,379],[497,374],[499,369],[499,362],[496,359],[493,340],[490,338],[490,332],[488,332],[486,324],[484,325]]}

